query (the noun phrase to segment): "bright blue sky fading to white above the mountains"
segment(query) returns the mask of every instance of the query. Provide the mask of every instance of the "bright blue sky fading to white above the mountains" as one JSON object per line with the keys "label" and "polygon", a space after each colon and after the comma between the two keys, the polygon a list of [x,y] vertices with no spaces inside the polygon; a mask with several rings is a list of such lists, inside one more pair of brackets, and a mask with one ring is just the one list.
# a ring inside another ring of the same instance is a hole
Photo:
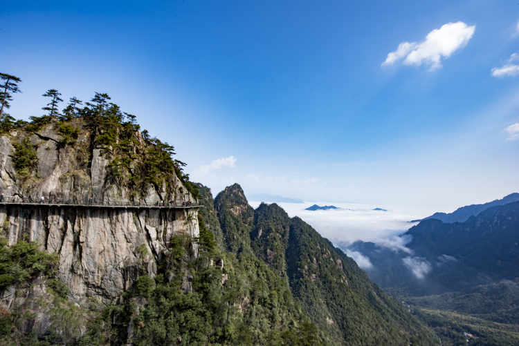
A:
{"label": "bright blue sky fading to white above the mountains", "polygon": [[518,21],[517,1],[11,1],[0,66],[11,115],[107,92],[214,193],[428,215],[519,191]]}

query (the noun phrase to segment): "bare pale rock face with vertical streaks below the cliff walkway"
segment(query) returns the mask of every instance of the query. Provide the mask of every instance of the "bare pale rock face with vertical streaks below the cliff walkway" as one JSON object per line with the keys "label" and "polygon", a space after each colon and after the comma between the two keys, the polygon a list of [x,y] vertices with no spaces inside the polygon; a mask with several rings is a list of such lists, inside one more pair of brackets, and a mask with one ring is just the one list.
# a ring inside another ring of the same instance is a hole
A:
{"label": "bare pale rock face with vertical streaks below the cliff walkway", "polygon": [[175,233],[198,236],[197,211],[3,206],[0,224],[10,244],[35,241],[60,253],[60,278],[73,300],[112,301],[141,266],[150,276]]}

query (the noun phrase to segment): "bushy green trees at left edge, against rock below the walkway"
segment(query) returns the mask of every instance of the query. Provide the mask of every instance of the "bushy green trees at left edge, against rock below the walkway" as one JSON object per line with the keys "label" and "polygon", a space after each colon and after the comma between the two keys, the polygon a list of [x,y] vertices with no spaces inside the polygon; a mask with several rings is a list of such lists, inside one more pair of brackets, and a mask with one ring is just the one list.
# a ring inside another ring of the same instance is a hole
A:
{"label": "bushy green trees at left edge, against rock below the walkway", "polygon": [[39,275],[53,276],[58,259],[57,254],[39,251],[34,242],[20,240],[10,247],[5,238],[0,238],[0,291]]}

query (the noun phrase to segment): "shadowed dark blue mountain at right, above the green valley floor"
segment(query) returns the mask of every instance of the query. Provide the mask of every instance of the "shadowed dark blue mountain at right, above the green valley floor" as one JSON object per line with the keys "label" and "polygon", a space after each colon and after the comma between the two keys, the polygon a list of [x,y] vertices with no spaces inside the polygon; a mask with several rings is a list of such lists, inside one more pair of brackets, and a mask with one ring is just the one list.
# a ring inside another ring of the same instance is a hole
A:
{"label": "shadowed dark blue mountain at right, above the green valley floor", "polygon": [[[519,278],[519,202],[493,206],[465,222],[428,219],[406,233],[406,248],[354,242],[370,278],[408,294],[439,294]],[[405,243],[402,241],[402,243]]]}

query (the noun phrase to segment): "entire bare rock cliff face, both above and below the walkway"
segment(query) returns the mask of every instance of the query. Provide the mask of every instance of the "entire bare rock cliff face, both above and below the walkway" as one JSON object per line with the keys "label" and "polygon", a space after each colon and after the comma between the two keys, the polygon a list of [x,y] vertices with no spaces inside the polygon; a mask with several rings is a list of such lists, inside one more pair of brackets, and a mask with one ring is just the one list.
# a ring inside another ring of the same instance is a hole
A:
{"label": "entire bare rock cliff face, both above and below the walkway", "polygon": [[[120,137],[113,145],[100,145],[84,119],[73,119],[67,124],[78,136],[71,144],[60,134],[62,124],[50,122],[35,131],[11,131],[0,137],[0,189],[6,199],[37,201],[43,195],[46,201],[87,203],[92,198],[95,203],[143,205],[194,200],[174,173],[161,176],[160,184],[141,184],[138,193],[127,183],[152,145],[138,131],[131,134],[135,163],[130,173],[114,175],[111,164],[118,159],[114,147]],[[20,143],[36,153],[35,169],[28,176],[16,167]],[[59,278],[80,304],[115,300],[134,282],[139,268],[154,276],[156,262],[174,234],[199,234],[196,209],[3,205],[0,224],[11,245],[30,240],[48,253],[59,253]],[[3,307],[9,309],[15,296],[5,294]]]}

